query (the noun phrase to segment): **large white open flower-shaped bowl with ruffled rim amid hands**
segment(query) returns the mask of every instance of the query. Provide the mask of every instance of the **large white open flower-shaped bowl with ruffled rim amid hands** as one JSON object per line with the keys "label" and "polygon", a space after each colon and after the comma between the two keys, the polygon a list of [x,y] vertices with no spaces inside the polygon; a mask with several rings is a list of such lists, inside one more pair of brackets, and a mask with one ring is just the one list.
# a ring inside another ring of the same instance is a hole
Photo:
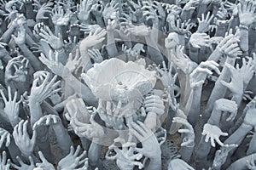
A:
{"label": "large white open flower-shaped bowl with ruffled rim amid hands", "polygon": [[154,71],[144,65],[120,59],[107,59],[95,64],[81,76],[98,99],[127,104],[148,94],[156,82]]}

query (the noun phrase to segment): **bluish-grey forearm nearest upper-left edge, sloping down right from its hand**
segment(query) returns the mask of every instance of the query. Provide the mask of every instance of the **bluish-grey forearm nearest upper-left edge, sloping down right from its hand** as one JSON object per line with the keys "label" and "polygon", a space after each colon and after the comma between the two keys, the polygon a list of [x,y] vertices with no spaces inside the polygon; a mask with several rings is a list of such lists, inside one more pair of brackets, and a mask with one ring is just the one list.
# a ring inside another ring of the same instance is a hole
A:
{"label": "bluish-grey forearm nearest upper-left edge, sloping down right from its hand", "polygon": [[32,54],[32,52],[26,47],[26,44],[18,44],[20,50],[24,54],[24,56],[30,60],[30,63],[35,71],[42,71],[43,67],[41,65],[41,61]]}

